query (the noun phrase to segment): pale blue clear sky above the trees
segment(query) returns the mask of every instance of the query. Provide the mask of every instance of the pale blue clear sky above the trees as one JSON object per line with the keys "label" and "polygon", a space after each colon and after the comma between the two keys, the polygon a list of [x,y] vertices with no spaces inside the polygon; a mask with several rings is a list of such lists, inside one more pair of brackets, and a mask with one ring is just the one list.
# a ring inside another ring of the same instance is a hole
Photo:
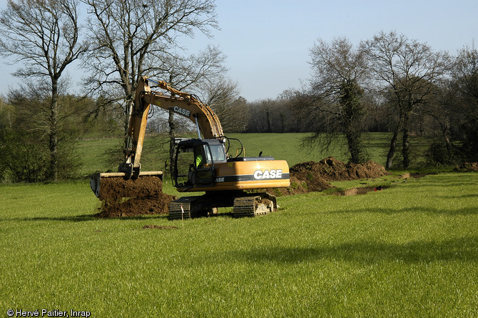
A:
{"label": "pale blue clear sky above the trees", "polygon": [[[0,0],[0,9],[6,0]],[[208,44],[227,56],[228,77],[248,101],[275,99],[310,79],[309,52],[317,39],[345,36],[352,44],[397,31],[436,51],[457,54],[478,40],[476,0],[216,0],[220,30],[185,42],[195,53]],[[0,94],[19,79],[0,58]],[[81,70],[70,69],[73,80]]]}

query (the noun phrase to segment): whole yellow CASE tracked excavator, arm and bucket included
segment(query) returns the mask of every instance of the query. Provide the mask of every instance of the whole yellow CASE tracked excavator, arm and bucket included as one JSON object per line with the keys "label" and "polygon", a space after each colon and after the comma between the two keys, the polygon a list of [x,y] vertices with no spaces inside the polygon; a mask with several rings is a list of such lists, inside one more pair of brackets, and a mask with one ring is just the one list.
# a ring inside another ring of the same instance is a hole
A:
{"label": "whole yellow CASE tracked excavator, arm and bucket included", "polygon": [[[151,86],[168,91],[169,95],[151,91]],[[272,156],[243,156],[244,147],[228,154],[232,139],[224,136],[218,116],[197,96],[173,89],[164,81],[141,77],[136,89],[129,122],[131,148],[125,149],[125,159],[118,172],[93,174],[90,185],[96,197],[102,187],[123,182],[121,194],[131,197],[131,181],[142,177],[159,177],[163,172],[141,172],[141,151],[151,105],[168,109],[195,123],[197,139],[178,139],[172,162],[171,179],[178,192],[205,192],[193,197],[180,197],[169,205],[169,219],[198,217],[217,213],[218,207],[233,207],[234,217],[253,217],[277,209],[275,196],[250,190],[289,187],[289,167],[285,160]],[[241,156],[242,155],[242,156]],[[126,191],[125,191],[126,188]],[[144,189],[145,191],[147,189]],[[160,189],[161,190],[161,189]],[[137,193],[138,189],[133,192]],[[141,190],[140,190],[141,191]]]}

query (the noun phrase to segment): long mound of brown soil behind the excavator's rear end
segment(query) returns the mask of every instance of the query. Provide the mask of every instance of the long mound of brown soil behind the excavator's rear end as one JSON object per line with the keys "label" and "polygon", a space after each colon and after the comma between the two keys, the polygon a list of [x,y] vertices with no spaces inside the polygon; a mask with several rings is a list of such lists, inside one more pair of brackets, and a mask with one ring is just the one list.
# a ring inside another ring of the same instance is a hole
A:
{"label": "long mound of brown soil behind the excavator's rear end", "polygon": [[331,188],[332,181],[372,179],[387,174],[382,165],[372,161],[351,164],[330,156],[320,162],[302,162],[290,167],[290,187],[269,191],[282,195],[322,191]]}

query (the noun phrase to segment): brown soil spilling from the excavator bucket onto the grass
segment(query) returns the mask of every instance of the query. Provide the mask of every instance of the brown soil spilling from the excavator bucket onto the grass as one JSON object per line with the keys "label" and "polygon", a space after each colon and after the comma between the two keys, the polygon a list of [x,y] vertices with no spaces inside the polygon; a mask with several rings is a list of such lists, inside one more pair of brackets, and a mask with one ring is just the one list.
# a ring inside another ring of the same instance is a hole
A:
{"label": "brown soil spilling from the excavator bucket onto the grass", "polygon": [[158,177],[101,179],[100,212],[95,217],[134,217],[141,214],[168,214],[168,207],[176,197],[162,191]]}

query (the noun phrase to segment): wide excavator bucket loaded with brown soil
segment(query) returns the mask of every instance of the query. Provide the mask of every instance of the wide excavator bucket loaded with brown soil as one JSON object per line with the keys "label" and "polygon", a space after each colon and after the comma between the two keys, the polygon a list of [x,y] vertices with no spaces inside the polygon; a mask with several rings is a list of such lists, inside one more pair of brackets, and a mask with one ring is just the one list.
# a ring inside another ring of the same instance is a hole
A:
{"label": "wide excavator bucket loaded with brown soil", "polygon": [[99,199],[117,200],[123,197],[158,197],[163,192],[163,172],[140,172],[138,179],[124,179],[123,172],[96,173],[90,177],[90,187]]}

